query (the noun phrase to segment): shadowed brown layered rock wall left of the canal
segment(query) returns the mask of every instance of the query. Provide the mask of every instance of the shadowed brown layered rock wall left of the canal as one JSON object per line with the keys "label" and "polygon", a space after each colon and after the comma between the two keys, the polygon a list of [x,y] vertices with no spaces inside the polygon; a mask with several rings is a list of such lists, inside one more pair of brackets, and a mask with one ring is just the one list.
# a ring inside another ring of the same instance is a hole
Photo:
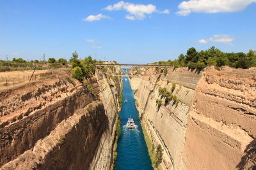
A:
{"label": "shadowed brown layered rock wall left of the canal", "polygon": [[120,82],[67,73],[0,92],[0,169],[109,169]]}

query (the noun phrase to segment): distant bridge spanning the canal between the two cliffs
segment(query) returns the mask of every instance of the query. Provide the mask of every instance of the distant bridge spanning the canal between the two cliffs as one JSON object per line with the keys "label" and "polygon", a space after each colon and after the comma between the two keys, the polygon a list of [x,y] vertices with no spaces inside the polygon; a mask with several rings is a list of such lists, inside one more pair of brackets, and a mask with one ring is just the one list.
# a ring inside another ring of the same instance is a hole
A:
{"label": "distant bridge spanning the canal between the two cliffs", "polygon": [[[97,69],[100,69],[105,74],[112,76],[149,76],[163,74],[164,70],[168,70],[171,65],[158,64],[111,64],[111,63],[97,63]],[[122,69],[122,72],[116,72],[116,66]],[[122,67],[126,67],[124,70]],[[128,68],[129,67],[129,68]]]}

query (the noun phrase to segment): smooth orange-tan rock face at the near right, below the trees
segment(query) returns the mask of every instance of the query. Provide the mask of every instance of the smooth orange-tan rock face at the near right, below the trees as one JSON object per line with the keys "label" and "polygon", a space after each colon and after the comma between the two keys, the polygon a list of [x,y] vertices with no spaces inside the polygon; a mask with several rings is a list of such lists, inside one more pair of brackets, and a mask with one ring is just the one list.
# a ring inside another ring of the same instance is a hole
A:
{"label": "smooth orange-tan rock face at the near right, below the trees", "polygon": [[188,118],[184,161],[190,169],[239,167],[256,138],[255,84],[250,70],[203,74]]}

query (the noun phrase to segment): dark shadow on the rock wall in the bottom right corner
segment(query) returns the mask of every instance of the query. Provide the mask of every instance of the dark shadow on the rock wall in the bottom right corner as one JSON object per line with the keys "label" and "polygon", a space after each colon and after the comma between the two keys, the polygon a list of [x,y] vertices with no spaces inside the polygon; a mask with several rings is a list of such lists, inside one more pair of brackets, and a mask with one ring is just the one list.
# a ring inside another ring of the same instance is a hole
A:
{"label": "dark shadow on the rock wall in the bottom right corner", "polygon": [[256,139],[253,140],[249,145],[246,146],[244,150],[245,155],[241,158],[239,164],[237,164],[237,169],[256,169]]}

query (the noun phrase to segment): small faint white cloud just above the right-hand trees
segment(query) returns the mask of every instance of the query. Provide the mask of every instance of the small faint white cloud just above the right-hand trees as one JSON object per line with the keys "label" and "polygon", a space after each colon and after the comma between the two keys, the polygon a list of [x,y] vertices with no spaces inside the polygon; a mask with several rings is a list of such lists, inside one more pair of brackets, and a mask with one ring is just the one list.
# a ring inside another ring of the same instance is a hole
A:
{"label": "small faint white cloud just above the right-hand trees", "polygon": [[234,37],[227,35],[227,34],[217,34],[207,39],[199,39],[198,43],[209,43],[209,42],[215,42],[215,43],[228,43],[228,45],[233,45],[232,42],[234,41]]}

